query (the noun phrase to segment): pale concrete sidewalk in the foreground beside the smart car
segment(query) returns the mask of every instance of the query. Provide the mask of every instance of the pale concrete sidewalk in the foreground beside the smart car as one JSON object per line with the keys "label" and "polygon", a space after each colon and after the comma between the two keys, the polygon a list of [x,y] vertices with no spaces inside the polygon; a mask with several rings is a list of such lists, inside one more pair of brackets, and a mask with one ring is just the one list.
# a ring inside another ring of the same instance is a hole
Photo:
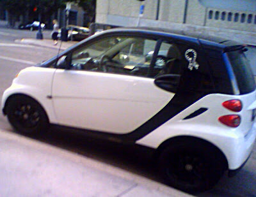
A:
{"label": "pale concrete sidewalk in the foreground beside the smart car", "polygon": [[0,171],[0,196],[189,196],[7,131],[0,131]]}

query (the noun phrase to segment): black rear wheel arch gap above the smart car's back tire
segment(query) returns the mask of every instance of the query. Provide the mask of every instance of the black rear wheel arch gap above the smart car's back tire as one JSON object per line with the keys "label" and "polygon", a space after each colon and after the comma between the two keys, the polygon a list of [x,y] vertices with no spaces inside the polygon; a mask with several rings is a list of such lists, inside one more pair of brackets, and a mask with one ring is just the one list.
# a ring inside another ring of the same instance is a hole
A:
{"label": "black rear wheel arch gap above the smart car's back tire", "polygon": [[213,143],[204,140],[202,138],[198,138],[195,136],[175,136],[173,138],[169,138],[168,140],[165,140],[164,142],[162,142],[159,147],[157,147],[155,153],[154,153],[154,159],[155,161],[157,161],[157,159],[159,158],[161,152],[168,146],[172,145],[173,143],[189,143],[189,142],[193,142],[193,143],[200,143],[201,146],[204,146],[205,149],[212,149],[214,150],[214,152],[216,152],[216,154],[218,154],[218,156],[220,156],[221,162],[223,162],[224,166],[225,166],[225,170],[228,169],[228,160],[227,157],[225,156],[225,154],[218,148],[216,147],[216,145],[214,145]]}

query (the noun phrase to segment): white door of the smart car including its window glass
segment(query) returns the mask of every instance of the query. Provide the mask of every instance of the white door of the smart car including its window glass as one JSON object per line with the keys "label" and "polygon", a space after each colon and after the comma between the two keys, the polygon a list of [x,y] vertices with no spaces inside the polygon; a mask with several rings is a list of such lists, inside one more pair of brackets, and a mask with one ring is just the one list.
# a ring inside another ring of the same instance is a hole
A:
{"label": "white door of the smart car including its window glass", "polygon": [[159,43],[108,36],[75,50],[71,69],[57,69],[52,83],[58,124],[127,134],[156,115],[175,94],[154,84],[161,65],[152,76],[156,57],[146,57]]}

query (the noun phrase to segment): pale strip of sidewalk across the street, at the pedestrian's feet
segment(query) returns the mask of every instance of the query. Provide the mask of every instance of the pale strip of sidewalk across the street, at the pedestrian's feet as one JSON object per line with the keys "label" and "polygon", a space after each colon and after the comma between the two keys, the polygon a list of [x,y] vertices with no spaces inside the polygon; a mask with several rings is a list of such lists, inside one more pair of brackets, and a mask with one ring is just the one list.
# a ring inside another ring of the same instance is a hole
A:
{"label": "pale strip of sidewalk across the street, at the pedestrian's feet", "polygon": [[65,50],[66,48],[71,47],[77,43],[77,41],[58,41],[58,45],[54,45],[53,41],[50,39],[38,40],[35,38],[23,38],[21,40],[15,40],[15,42],[56,49],[61,47],[61,50]]}

